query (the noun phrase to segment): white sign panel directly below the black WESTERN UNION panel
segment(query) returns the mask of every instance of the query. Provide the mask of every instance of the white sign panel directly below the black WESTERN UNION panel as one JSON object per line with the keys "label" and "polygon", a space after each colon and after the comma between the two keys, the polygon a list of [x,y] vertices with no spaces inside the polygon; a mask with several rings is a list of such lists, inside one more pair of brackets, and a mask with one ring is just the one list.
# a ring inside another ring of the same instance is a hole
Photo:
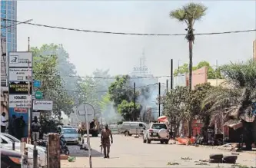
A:
{"label": "white sign panel directly below the black WESTERN UNION panel", "polygon": [[9,107],[31,107],[32,97],[28,95],[9,94]]}

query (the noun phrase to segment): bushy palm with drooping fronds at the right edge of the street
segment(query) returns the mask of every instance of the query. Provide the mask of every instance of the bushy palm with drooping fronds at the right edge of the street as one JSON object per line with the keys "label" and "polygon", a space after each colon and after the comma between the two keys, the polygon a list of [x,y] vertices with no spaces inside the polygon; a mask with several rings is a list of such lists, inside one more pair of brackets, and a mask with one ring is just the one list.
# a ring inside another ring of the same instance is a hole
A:
{"label": "bushy palm with drooping fronds at the right edge of the street", "polygon": [[212,116],[224,116],[228,120],[243,120],[244,140],[248,150],[256,141],[254,102],[256,102],[256,61],[226,64],[221,72],[227,80],[226,85],[217,87],[204,99],[203,108],[208,106]]}

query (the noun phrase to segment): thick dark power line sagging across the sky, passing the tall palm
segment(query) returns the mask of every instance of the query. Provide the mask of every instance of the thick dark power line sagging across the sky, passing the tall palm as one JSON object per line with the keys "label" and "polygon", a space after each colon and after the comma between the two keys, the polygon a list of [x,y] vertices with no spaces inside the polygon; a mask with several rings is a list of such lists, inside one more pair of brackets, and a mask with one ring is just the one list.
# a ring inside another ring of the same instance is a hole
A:
{"label": "thick dark power line sagging across the sky, passing the tall palm", "polygon": [[[141,35],[141,36],[185,36],[187,34],[154,34],[154,33],[125,33],[125,32],[114,32],[114,31],[91,31],[91,30],[85,30],[85,29],[79,29],[79,28],[65,28],[60,26],[53,26],[53,25],[42,25],[42,24],[35,24],[35,23],[28,23],[24,21],[16,21],[6,18],[1,18],[2,20],[6,21],[15,21],[18,23],[26,24],[26,25],[35,25],[39,27],[45,27],[45,28],[56,28],[56,29],[62,29],[62,30],[68,30],[68,31],[83,31],[88,33],[99,33],[99,34],[111,34],[111,35]],[[222,32],[210,32],[210,33],[196,33],[194,35],[223,35],[223,34],[234,34],[234,33],[245,33],[245,32],[251,32],[256,31],[256,29],[249,29],[249,30],[243,30],[243,31],[222,31]]]}

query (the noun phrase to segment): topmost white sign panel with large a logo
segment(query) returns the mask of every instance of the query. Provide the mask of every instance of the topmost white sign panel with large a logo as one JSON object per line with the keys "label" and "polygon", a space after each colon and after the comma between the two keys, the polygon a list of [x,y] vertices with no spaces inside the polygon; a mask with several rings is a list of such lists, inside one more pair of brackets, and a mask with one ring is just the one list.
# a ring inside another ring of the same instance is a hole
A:
{"label": "topmost white sign panel with large a logo", "polygon": [[9,52],[9,67],[32,67],[32,52]]}

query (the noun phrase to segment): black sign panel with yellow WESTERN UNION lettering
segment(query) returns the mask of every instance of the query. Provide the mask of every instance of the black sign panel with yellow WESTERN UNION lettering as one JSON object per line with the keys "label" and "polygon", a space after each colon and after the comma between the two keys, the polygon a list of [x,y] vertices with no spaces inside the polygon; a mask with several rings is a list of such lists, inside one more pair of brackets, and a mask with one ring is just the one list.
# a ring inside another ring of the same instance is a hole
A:
{"label": "black sign panel with yellow WESTERN UNION lettering", "polygon": [[[30,82],[30,93],[32,94],[32,82]],[[28,94],[28,82],[11,82],[9,84],[9,94]]]}

